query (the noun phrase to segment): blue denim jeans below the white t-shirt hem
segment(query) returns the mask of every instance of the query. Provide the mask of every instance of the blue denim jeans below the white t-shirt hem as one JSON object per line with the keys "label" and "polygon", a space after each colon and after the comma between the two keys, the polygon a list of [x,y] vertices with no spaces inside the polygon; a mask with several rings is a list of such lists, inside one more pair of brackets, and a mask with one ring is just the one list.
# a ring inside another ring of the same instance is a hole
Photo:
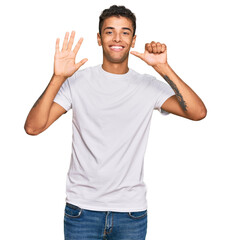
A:
{"label": "blue denim jeans below the white t-shirt hem", "polygon": [[65,240],[145,240],[147,210],[92,211],[66,203]]}

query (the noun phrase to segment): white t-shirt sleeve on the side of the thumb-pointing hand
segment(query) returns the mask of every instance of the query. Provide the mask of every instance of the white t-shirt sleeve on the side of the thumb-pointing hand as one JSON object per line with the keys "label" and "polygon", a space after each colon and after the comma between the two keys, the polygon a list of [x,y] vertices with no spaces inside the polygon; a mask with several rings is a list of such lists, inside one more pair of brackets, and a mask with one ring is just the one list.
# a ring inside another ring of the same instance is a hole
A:
{"label": "white t-shirt sleeve on the side of the thumb-pointing hand", "polygon": [[155,77],[152,79],[152,84],[155,91],[154,109],[158,110],[163,115],[169,114],[168,112],[161,109],[161,106],[168,98],[175,95],[175,92],[167,83],[162,82]]}

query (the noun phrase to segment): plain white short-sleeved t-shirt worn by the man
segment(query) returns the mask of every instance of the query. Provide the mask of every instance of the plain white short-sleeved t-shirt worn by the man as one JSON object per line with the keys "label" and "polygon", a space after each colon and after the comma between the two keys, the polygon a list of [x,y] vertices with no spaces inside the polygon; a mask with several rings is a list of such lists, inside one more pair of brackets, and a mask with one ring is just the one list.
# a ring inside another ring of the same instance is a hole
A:
{"label": "plain white short-sleeved t-shirt worn by the man", "polygon": [[72,154],[66,202],[95,211],[147,209],[143,161],[153,109],[172,88],[132,69],[112,74],[102,65],[75,72],[54,102],[72,108]]}

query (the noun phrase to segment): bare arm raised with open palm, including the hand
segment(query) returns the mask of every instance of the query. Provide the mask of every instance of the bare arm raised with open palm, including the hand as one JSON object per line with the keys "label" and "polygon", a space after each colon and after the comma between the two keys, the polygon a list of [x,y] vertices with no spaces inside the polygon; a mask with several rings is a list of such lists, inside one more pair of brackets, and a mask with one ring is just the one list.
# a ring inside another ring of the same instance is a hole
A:
{"label": "bare arm raised with open palm, including the hand", "polygon": [[24,125],[24,129],[29,135],[37,135],[43,132],[66,112],[64,108],[53,102],[53,100],[64,81],[87,61],[87,59],[83,59],[79,63],[75,63],[75,57],[83,39],[81,38],[73,51],[71,51],[75,32],[72,32],[69,43],[68,35],[69,33],[67,32],[61,51],[59,50],[59,39],[56,40],[54,74],[47,88],[30,110]]}

